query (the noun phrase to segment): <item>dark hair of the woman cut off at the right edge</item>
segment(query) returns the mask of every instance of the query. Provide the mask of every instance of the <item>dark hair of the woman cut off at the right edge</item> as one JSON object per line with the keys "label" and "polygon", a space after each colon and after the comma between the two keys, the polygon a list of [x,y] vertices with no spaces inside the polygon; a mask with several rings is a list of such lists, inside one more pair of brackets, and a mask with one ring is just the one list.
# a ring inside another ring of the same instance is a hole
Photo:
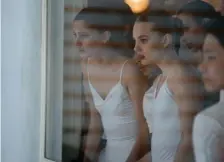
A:
{"label": "dark hair of the woman cut off at the right edge", "polygon": [[206,24],[206,34],[215,36],[224,48],[224,17],[217,13],[217,17]]}

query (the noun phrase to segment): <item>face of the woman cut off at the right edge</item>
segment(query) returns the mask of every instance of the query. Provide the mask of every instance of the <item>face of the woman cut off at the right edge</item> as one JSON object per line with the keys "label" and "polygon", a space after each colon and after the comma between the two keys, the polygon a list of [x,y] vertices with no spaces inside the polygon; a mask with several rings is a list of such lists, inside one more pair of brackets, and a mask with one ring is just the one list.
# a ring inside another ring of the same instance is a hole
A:
{"label": "face of the woman cut off at the right edge", "polygon": [[203,45],[203,61],[199,65],[205,88],[209,92],[224,89],[224,47],[208,34]]}

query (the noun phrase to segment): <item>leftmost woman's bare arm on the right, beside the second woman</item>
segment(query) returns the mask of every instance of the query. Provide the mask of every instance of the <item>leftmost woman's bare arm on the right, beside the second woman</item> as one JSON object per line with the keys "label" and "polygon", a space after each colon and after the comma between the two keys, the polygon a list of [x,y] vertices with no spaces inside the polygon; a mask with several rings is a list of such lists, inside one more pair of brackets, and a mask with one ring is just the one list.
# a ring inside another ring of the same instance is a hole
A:
{"label": "leftmost woman's bare arm on the right, beside the second woman", "polygon": [[124,84],[135,108],[138,122],[138,135],[127,162],[135,162],[149,152],[149,130],[143,114],[143,97],[148,88],[148,80],[139,71],[134,62],[128,62],[124,68]]}

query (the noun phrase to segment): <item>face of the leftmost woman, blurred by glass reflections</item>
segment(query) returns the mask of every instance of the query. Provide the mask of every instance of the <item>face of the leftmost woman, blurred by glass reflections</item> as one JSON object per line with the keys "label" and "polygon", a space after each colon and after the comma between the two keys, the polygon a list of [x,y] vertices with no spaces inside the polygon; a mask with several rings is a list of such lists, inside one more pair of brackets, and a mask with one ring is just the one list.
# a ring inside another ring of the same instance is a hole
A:
{"label": "face of the leftmost woman, blurred by glass reflections", "polygon": [[93,57],[97,52],[97,43],[101,40],[101,34],[88,27],[83,20],[73,22],[73,37],[81,58]]}

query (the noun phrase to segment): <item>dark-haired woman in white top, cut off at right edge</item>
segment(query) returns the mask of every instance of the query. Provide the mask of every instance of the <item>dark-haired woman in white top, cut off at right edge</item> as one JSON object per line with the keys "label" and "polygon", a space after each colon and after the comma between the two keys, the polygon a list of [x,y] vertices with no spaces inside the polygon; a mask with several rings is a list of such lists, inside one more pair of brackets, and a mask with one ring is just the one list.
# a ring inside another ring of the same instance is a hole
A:
{"label": "dark-haired woman in white top, cut off at right edge", "polygon": [[224,18],[212,20],[199,66],[208,92],[221,91],[220,102],[197,115],[193,141],[197,162],[224,161]]}

